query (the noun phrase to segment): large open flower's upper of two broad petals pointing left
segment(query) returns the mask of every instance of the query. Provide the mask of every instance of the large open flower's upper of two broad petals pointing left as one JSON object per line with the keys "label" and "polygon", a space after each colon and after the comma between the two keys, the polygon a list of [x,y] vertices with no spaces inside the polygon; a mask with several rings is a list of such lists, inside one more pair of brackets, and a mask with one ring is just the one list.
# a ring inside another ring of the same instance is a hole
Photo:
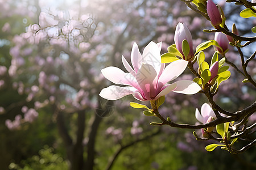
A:
{"label": "large open flower's upper of two broad petals pointing left", "polygon": [[105,69],[101,69],[101,73],[105,76],[106,79],[115,84],[130,86],[136,86],[137,84],[133,75],[123,72],[123,70],[119,69],[118,67],[106,67]]}

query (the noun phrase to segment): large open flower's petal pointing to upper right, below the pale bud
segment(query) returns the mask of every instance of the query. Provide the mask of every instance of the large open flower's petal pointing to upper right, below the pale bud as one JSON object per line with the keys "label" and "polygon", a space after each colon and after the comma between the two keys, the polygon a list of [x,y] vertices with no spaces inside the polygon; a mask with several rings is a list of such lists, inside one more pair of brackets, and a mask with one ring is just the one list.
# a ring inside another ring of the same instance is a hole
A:
{"label": "large open flower's petal pointing to upper right, below the pale bud", "polygon": [[176,79],[181,73],[183,73],[187,65],[188,62],[183,59],[171,62],[160,75],[158,82],[161,82],[164,85],[167,82]]}

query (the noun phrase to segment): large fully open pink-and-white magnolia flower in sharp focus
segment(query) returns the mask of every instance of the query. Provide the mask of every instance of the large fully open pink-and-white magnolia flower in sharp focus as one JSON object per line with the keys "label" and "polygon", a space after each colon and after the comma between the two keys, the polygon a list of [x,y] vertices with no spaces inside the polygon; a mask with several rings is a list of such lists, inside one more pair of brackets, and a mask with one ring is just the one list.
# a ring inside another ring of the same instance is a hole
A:
{"label": "large fully open pink-and-white magnolia flower in sharp focus", "polygon": [[170,91],[188,95],[200,91],[200,86],[191,80],[167,84],[183,73],[188,62],[180,59],[165,67],[164,63],[161,63],[161,46],[162,42],[155,44],[151,41],[141,54],[138,45],[134,43],[131,50],[133,67],[122,56],[123,65],[129,73],[112,66],[102,69],[101,73],[105,78],[115,84],[125,85],[125,87],[109,86],[101,90],[100,96],[108,100],[117,100],[133,94],[135,99],[147,101],[157,100]]}

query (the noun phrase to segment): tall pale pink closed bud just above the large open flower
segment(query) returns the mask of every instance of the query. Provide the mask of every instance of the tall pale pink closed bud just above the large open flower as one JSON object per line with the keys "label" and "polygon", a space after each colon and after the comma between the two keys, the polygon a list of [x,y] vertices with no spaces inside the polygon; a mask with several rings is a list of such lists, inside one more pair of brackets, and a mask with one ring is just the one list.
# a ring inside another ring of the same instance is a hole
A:
{"label": "tall pale pink closed bud just above the large open flower", "polygon": [[[187,59],[185,59],[184,53],[182,52],[182,41],[187,40],[189,44],[189,54]],[[179,23],[176,26],[175,34],[174,34],[174,42],[176,45],[177,50],[183,55],[183,59],[187,61],[191,61],[194,57],[193,53],[193,41],[191,33],[187,27],[187,25]]]}

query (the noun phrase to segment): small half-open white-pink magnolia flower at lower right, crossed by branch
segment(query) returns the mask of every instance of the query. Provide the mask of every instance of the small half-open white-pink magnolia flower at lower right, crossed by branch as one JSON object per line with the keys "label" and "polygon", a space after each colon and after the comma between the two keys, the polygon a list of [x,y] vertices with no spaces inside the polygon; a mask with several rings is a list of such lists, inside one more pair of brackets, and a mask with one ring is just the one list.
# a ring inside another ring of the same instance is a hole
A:
{"label": "small half-open white-pink magnolia flower at lower right, crossed by branch", "polygon": [[[213,118],[216,118],[212,108],[209,104],[204,103],[201,107],[201,113],[199,112],[199,109],[196,108],[196,119],[200,121],[202,124],[207,124],[210,121],[213,120]],[[212,132],[213,127],[207,128],[207,131],[210,133]],[[203,137],[207,137],[207,134],[204,132],[203,129],[201,129],[201,132],[203,134]]]}

